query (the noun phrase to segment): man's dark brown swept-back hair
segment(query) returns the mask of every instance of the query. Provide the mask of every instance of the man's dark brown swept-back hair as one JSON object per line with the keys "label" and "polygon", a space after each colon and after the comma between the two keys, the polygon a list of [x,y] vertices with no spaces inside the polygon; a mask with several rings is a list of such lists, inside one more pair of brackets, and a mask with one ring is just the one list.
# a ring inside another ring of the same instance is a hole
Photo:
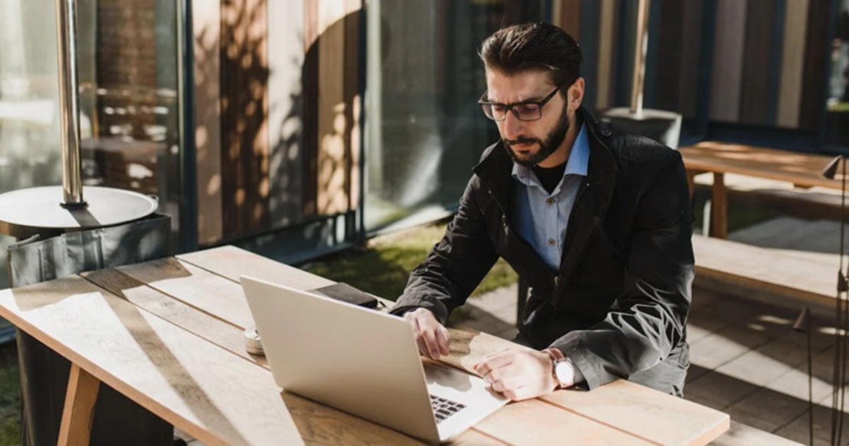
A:
{"label": "man's dark brown swept-back hair", "polygon": [[548,23],[510,25],[481,44],[487,70],[513,75],[548,71],[555,86],[570,86],[581,76],[581,48],[566,31]]}

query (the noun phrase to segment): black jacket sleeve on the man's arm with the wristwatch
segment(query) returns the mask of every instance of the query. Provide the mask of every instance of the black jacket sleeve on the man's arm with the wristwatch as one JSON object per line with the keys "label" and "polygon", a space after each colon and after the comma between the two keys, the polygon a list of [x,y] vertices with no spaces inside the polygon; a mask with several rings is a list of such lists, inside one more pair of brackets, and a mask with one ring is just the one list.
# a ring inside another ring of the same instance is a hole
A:
{"label": "black jacket sleeve on the man's arm with the wristwatch", "polygon": [[624,291],[588,330],[552,343],[598,387],[649,369],[684,341],[693,283],[693,217],[681,155],[671,152],[638,205]]}

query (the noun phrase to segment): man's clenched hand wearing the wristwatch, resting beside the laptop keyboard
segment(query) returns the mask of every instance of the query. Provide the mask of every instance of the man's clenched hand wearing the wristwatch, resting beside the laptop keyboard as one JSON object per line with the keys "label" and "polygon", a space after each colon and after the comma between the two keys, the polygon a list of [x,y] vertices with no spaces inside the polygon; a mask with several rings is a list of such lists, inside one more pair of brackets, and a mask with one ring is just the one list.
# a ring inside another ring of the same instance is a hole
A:
{"label": "man's clenched hand wearing the wristwatch, resting beside the laptop keyboard", "polygon": [[492,390],[514,401],[537,398],[557,387],[551,358],[536,350],[492,353],[473,368]]}

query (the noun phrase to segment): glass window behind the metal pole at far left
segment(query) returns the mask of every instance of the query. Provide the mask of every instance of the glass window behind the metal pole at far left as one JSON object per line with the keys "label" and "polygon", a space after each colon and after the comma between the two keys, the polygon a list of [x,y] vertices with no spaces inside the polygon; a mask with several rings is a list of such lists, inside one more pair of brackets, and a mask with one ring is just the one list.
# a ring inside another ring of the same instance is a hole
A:
{"label": "glass window behind the metal pole at far left", "polygon": [[[158,195],[175,231],[179,4],[77,2],[83,182]],[[0,3],[0,193],[62,181],[55,14],[54,2]],[[0,236],[0,288],[12,241]]]}

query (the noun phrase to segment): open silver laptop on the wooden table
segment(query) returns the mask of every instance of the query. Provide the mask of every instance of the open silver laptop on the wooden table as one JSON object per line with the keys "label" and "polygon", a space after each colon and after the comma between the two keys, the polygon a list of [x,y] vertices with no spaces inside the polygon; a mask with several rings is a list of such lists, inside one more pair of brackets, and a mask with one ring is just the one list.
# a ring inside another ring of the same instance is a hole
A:
{"label": "open silver laptop on the wooden table", "polygon": [[486,381],[423,363],[402,318],[242,276],[274,381],[431,443],[507,404]]}

